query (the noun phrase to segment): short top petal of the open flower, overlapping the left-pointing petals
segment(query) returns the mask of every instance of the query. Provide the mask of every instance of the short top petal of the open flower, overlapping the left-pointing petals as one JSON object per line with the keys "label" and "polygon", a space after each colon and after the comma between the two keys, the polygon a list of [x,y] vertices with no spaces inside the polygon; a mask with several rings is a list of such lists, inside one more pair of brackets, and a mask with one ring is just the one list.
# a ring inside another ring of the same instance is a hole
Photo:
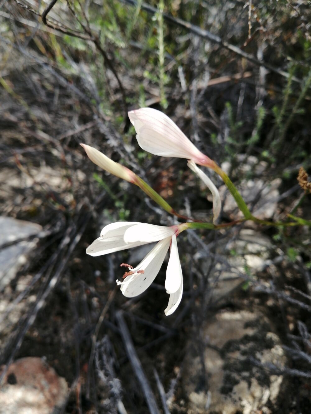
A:
{"label": "short top petal of the open flower, overlapping the left-pointing petals", "polygon": [[138,223],[136,226],[129,227],[124,233],[124,241],[133,243],[143,241],[151,243],[152,241],[162,240],[163,238],[173,236],[176,226],[155,226],[154,224]]}

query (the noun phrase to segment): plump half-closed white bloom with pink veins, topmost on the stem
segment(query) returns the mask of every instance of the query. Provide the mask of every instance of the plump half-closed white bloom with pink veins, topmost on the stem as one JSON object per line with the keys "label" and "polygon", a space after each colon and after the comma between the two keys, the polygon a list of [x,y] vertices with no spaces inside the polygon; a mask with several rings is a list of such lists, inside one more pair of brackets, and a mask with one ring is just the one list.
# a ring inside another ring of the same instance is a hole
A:
{"label": "plump half-closed white bloom with pink veins, topmost on the stem", "polygon": [[145,151],[159,156],[193,159],[199,165],[209,166],[213,162],[163,112],[141,108],[128,114],[136,130],[138,144]]}

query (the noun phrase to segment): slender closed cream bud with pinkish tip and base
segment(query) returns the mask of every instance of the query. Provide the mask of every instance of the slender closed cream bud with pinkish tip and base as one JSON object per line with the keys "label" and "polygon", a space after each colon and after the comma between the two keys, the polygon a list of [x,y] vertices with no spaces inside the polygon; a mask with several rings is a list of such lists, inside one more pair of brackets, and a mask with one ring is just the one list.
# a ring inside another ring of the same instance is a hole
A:
{"label": "slender closed cream bud with pinkish tip and base", "polygon": [[83,147],[87,156],[94,164],[98,165],[100,168],[108,171],[108,173],[113,174],[114,176],[129,181],[130,183],[134,183],[135,174],[133,171],[129,170],[129,168],[126,168],[123,165],[112,161],[112,159],[108,158],[102,152],[98,151],[98,149],[90,147],[90,145],[80,145]]}

